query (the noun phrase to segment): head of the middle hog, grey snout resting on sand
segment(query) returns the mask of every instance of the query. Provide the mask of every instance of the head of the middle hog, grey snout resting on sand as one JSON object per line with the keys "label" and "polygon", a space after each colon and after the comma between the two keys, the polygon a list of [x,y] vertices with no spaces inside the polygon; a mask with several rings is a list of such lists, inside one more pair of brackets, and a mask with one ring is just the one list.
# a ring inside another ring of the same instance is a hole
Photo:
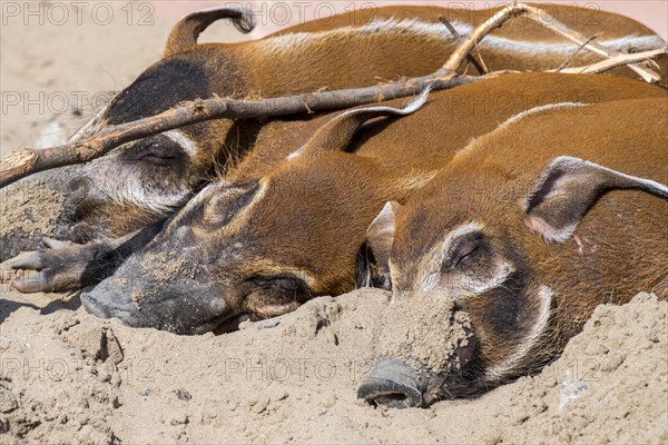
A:
{"label": "head of the middle hog, grey snout resting on sand", "polygon": [[374,208],[410,187],[376,160],[345,152],[379,116],[416,110],[372,107],[337,116],[259,179],[207,186],[143,251],[81,296],[100,317],[193,334],[243,314],[269,317],[317,295],[354,286],[355,250]]}

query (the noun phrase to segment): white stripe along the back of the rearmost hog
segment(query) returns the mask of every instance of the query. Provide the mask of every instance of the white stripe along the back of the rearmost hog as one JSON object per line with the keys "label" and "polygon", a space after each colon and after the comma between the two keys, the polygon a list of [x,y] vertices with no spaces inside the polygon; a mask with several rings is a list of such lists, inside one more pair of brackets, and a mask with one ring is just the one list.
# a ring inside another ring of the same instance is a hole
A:
{"label": "white stripe along the back of the rearmost hog", "polygon": [[[469,23],[452,21],[452,26],[462,37],[469,37],[473,27]],[[411,34],[419,37],[430,37],[443,41],[454,41],[454,37],[441,23],[428,23],[415,19],[387,19],[375,20],[357,27],[343,27],[326,32],[296,32],[263,41],[267,50],[294,51],[294,48],[302,48],[305,44],[322,44],[326,40],[345,39],[348,34]],[[658,36],[625,36],[610,40],[597,40],[603,47],[621,50],[631,46],[639,51],[658,49],[665,46],[665,42]],[[479,44],[481,48],[490,47],[510,52],[522,52],[528,55],[570,55],[578,49],[576,43],[571,42],[541,42],[529,40],[512,40],[503,37],[487,36]]]}

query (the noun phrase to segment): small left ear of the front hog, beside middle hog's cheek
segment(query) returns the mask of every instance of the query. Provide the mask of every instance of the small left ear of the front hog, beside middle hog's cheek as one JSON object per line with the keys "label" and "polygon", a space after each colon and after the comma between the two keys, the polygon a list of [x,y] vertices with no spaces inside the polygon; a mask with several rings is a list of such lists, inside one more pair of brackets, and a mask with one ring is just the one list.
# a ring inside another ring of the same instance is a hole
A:
{"label": "small left ear of the front hog, beside middle hog's cheek", "polygon": [[400,208],[401,205],[399,202],[389,201],[369,226],[364,244],[357,251],[357,261],[355,265],[356,287],[392,289],[390,254],[392,253],[392,244],[394,243],[394,233],[396,230],[396,211]]}

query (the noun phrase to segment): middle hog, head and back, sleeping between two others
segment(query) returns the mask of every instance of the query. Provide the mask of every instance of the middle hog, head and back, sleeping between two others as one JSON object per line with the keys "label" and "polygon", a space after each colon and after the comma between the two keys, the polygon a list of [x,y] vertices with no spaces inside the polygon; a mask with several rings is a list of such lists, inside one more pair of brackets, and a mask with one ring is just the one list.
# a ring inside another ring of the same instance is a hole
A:
{"label": "middle hog, head and back, sleeping between two others", "polygon": [[[518,100],[501,109],[470,106],[488,103],[492,93],[512,93],[520,79],[524,96]],[[144,259],[174,253],[197,273],[160,283],[160,298],[144,300],[140,310],[128,303],[128,312],[124,301],[131,300],[131,293],[115,287],[111,277],[88,297],[107,301],[106,309],[94,313],[193,333],[213,328],[213,320],[244,313],[276,315],[311,296],[351,290],[355,254],[387,200],[406,201],[433,182],[434,174],[460,148],[500,122],[528,108],[582,93],[593,95],[589,101],[596,102],[662,97],[664,90],[615,77],[509,75],[432,92],[409,116],[389,112],[405,110],[404,99],[292,122],[289,131],[269,125],[261,137],[273,141],[271,149],[254,151],[225,180],[204,188],[115,277],[146,270],[146,278],[132,280],[134,285],[158,286],[148,273],[155,261],[144,265]],[[304,147],[301,155],[285,160],[297,147]],[[269,168],[267,159],[277,164]],[[499,264],[509,279],[517,278]],[[188,299],[194,294],[198,297]],[[166,319],[169,323],[164,324]]]}

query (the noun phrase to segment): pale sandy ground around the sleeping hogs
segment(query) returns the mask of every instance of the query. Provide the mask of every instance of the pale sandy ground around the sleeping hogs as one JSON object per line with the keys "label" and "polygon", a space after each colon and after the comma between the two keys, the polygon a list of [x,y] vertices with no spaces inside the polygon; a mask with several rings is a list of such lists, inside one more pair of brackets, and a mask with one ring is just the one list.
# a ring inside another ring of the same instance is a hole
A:
{"label": "pale sandy ground around the sleeping hogs", "polygon": [[[3,23],[0,156],[33,145],[65,108],[101,106],[159,58],[173,19],[140,26],[135,9],[128,24],[124,7],[114,3],[106,26],[87,16],[80,26]],[[216,31],[208,37],[238,38]],[[3,444],[668,443],[668,304],[652,296],[599,307],[538,376],[474,400],[395,411],[355,399],[385,293],[317,298],[233,334],[178,337],[92,318],[76,295],[22,296],[1,274]]]}

